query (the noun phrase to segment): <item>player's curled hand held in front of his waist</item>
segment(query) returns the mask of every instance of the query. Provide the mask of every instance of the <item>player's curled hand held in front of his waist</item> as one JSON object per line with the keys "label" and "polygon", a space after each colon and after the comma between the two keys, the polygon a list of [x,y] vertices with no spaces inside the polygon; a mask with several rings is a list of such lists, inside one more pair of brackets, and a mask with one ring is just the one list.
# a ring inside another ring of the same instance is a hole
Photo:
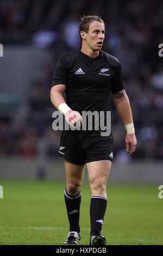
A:
{"label": "player's curled hand held in front of his waist", "polygon": [[65,119],[67,123],[73,127],[75,126],[77,127],[83,124],[82,115],[80,115],[78,112],[73,111],[71,109],[65,113]]}

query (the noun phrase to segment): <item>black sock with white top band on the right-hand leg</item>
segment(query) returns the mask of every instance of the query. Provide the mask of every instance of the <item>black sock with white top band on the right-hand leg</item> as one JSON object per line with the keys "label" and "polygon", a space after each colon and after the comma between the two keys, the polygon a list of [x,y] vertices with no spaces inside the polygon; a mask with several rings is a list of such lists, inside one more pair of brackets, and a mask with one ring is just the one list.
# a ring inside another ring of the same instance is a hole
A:
{"label": "black sock with white top band on the right-hand leg", "polygon": [[107,198],[93,196],[90,204],[91,235],[101,232],[106,211]]}

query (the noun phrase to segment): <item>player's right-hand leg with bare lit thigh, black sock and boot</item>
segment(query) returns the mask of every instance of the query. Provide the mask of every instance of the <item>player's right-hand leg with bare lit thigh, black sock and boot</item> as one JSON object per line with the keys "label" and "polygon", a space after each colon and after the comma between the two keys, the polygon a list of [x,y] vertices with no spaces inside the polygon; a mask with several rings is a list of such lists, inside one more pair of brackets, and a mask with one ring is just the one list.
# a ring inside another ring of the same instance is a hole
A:
{"label": "player's right-hand leg with bare lit thigh, black sock and boot", "polygon": [[[91,204],[90,204],[90,219],[91,219],[91,237],[98,235],[101,232],[106,204],[106,183],[108,180],[110,168],[110,160],[101,160],[87,163],[87,170],[89,173],[89,182],[91,187]],[[105,243],[104,237],[98,237],[99,241],[94,241],[97,243],[91,244],[103,244]],[[95,240],[98,240],[95,237]],[[102,242],[102,243],[101,243]]]}

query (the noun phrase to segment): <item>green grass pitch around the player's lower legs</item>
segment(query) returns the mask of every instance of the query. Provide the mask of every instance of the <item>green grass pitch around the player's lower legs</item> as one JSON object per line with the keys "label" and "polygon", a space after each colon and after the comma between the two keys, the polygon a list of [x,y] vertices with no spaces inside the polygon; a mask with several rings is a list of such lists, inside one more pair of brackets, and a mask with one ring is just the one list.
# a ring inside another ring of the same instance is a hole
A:
{"label": "green grass pitch around the player's lower legs", "polygon": [[[0,181],[0,245],[62,245],[68,233],[65,182]],[[111,184],[102,233],[108,245],[163,245],[159,185]],[[89,245],[90,188],[82,187],[79,245]]]}

